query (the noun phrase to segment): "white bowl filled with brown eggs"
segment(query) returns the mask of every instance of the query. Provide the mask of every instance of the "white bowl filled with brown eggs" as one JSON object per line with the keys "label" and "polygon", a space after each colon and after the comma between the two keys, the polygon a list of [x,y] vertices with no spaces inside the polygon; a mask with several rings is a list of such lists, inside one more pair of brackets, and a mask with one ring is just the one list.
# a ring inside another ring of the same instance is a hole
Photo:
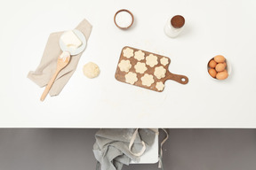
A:
{"label": "white bowl filled with brown eggs", "polygon": [[211,58],[207,65],[208,73],[215,80],[226,80],[231,73],[231,66],[226,58],[217,55]]}

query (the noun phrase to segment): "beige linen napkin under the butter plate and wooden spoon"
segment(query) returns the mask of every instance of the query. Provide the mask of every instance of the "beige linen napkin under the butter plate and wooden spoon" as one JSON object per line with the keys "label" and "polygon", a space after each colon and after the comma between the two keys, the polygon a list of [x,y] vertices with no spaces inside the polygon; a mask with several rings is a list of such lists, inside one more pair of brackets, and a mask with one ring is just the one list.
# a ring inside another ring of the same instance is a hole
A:
{"label": "beige linen napkin under the butter plate and wooden spoon", "polygon": [[[77,27],[77,30],[81,31],[86,41],[88,41],[89,36],[92,31],[92,25],[84,19]],[[30,71],[28,73],[28,79],[36,82],[39,87],[44,87],[51,80],[53,73],[56,71],[57,59],[60,56],[62,50],[60,49],[60,35],[63,32],[52,33],[44,49],[44,54],[41,59],[39,66],[37,66],[36,71]],[[74,55],[70,58],[68,66],[63,68],[58,74],[56,80],[52,84],[52,88],[49,91],[51,96],[56,96],[60,94],[60,91],[67,84],[68,80],[71,78],[73,73],[76,71],[76,66],[78,61],[82,56],[82,53]]]}

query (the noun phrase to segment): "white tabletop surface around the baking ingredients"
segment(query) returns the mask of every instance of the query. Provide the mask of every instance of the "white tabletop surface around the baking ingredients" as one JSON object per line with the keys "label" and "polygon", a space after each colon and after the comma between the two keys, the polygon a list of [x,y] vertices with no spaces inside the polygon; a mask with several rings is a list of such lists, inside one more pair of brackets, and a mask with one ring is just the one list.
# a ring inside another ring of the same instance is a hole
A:
{"label": "white tabletop surface around the baking ingredients", "polygon": [[[121,30],[114,15],[128,9],[134,24]],[[0,3],[0,127],[2,128],[256,128],[256,1],[5,1]],[[183,15],[176,39],[164,35],[166,20]],[[28,80],[50,33],[92,23],[76,73],[57,97]],[[124,46],[171,58],[169,70],[187,85],[166,81],[155,92],[116,81]],[[206,66],[222,54],[232,66],[215,81]],[[84,76],[84,64],[100,76]]]}

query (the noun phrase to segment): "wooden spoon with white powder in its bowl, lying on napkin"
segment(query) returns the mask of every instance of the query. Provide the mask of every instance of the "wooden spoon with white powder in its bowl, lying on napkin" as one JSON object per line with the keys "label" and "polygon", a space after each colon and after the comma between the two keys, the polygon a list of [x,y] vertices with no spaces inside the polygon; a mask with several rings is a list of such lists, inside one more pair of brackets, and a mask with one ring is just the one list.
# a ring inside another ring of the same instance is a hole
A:
{"label": "wooden spoon with white powder in its bowl, lying on napkin", "polygon": [[65,66],[68,65],[68,62],[70,60],[70,54],[68,51],[63,51],[60,54],[60,57],[58,58],[57,61],[57,68],[55,73],[52,75],[52,79],[48,82],[46,88],[44,89],[44,92],[40,98],[40,100],[43,102],[45,97],[48,95],[50,89],[52,88],[52,84],[55,81],[57,75],[60,73],[60,70],[62,70]]}

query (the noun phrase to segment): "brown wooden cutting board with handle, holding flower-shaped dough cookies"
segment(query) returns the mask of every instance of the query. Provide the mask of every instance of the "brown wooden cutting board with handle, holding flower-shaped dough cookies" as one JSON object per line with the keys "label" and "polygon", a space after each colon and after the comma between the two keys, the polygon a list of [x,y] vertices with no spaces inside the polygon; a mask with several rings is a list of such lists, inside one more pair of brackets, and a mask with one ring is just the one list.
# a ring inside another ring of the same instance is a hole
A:
{"label": "brown wooden cutting board with handle, holding flower-shaped dough cookies", "polygon": [[164,90],[167,80],[187,84],[188,77],[169,72],[171,59],[125,46],[116,67],[116,80],[158,92]]}

